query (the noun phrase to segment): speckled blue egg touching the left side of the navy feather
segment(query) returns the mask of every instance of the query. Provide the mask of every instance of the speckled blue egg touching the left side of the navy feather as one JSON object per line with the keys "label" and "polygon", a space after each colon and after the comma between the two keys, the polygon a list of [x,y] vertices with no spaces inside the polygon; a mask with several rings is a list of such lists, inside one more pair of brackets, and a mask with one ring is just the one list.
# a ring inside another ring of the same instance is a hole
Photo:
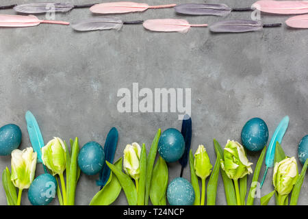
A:
{"label": "speckled blue egg touching the left side of the navy feather", "polygon": [[166,162],[176,162],[185,150],[184,138],[177,129],[167,129],[158,142],[158,153]]}

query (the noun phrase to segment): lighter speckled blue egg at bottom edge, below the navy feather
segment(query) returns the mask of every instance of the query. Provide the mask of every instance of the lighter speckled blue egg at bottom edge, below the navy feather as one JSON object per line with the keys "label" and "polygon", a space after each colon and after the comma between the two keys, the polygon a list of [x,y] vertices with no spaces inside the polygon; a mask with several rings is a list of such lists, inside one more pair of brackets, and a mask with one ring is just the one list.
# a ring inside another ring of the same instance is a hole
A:
{"label": "lighter speckled blue egg at bottom edge, below the navy feather", "polygon": [[167,199],[170,205],[193,205],[194,197],[194,188],[187,179],[175,178],[168,185]]}

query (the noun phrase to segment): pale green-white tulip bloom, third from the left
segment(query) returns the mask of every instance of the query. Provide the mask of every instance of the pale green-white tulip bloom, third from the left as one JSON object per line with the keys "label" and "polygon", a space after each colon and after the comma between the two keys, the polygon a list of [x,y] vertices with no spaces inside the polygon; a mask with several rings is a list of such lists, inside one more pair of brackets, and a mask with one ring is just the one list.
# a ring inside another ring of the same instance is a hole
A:
{"label": "pale green-white tulip bloom, third from the left", "polygon": [[138,143],[127,144],[124,149],[123,169],[131,178],[138,180],[140,177],[140,153],[141,147]]}

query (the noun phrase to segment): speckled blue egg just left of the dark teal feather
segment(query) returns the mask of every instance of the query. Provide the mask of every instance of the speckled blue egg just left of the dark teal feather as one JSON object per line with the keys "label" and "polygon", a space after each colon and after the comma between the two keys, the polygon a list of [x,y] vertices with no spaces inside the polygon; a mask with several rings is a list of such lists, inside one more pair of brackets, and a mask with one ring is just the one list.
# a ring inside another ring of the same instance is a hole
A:
{"label": "speckled blue egg just left of the dark teal feather", "polygon": [[86,175],[96,175],[105,163],[105,153],[101,144],[88,142],[78,155],[78,166]]}

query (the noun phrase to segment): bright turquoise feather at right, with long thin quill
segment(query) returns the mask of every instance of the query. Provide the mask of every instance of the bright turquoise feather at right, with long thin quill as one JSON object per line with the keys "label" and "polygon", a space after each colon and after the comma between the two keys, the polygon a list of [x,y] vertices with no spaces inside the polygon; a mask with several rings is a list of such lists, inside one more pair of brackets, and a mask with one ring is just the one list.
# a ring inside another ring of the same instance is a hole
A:
{"label": "bright turquoise feather at right, with long thin quill", "polygon": [[285,131],[287,131],[287,126],[289,125],[289,116],[285,116],[281,122],[279,123],[278,127],[276,128],[274,134],[272,135],[272,139],[270,140],[270,144],[268,145],[268,151],[266,151],[266,171],[264,172],[264,177],[261,181],[260,188],[266,179],[266,174],[268,173],[268,168],[274,166],[274,157],[275,157],[275,149],[276,143],[279,142],[281,144],[283,140],[283,136],[285,135]]}

